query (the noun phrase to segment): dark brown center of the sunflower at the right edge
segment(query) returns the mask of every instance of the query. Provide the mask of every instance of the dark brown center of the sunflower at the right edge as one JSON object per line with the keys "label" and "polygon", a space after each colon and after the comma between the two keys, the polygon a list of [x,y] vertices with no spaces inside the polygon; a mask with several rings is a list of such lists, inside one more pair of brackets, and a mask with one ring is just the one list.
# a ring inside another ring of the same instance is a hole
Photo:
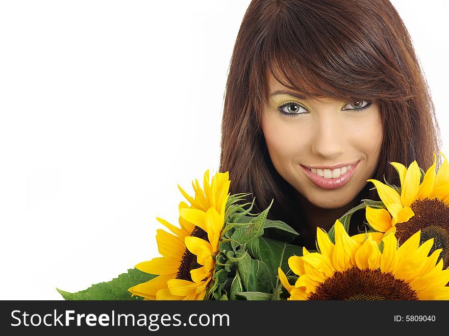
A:
{"label": "dark brown center of the sunflower at the right edge", "polygon": [[396,224],[397,240],[405,242],[415,232],[421,230],[421,244],[430,238],[434,238],[434,244],[430,253],[442,248],[440,259],[443,260],[443,268],[449,266],[449,205],[438,198],[417,199],[411,205],[415,216],[407,222]]}

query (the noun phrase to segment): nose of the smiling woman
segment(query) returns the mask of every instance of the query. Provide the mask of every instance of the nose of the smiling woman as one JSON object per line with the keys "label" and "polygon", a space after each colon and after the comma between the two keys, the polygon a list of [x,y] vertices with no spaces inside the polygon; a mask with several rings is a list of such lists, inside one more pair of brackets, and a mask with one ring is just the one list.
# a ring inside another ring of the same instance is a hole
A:
{"label": "nose of the smiling woman", "polygon": [[342,129],[335,113],[321,113],[315,120],[312,152],[325,159],[334,159],[344,151],[344,139],[351,130]]}

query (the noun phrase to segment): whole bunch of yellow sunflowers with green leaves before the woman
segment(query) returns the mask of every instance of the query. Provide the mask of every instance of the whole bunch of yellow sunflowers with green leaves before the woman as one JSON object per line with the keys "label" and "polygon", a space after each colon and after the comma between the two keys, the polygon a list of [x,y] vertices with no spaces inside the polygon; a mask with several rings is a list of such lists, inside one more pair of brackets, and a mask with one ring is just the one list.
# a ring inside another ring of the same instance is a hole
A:
{"label": "whole bunch of yellow sunflowers with green leaves before the woman", "polygon": [[[442,154],[442,153],[441,153]],[[179,225],[157,218],[160,257],[66,300],[449,300],[449,163],[424,172],[391,163],[396,187],[375,179],[380,201],[364,199],[326,232],[317,228],[316,250],[289,244],[297,232],[253,214],[250,194],[229,193],[229,174],[209,171],[179,187]],[[368,230],[349,236],[356,211]],[[285,241],[264,236],[279,230]]]}

